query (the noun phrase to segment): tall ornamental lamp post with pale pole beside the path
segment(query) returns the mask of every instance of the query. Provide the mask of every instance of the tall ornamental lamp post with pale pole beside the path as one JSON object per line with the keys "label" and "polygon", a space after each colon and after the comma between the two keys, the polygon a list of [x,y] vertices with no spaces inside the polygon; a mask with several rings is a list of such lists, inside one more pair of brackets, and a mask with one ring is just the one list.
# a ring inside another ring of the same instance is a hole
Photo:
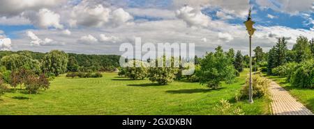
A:
{"label": "tall ornamental lamp post with pale pole beside the path", "polygon": [[253,87],[252,87],[252,36],[254,32],[256,31],[255,28],[253,28],[253,24],[255,22],[251,19],[251,8],[248,10],[248,20],[244,22],[246,25],[246,31],[248,31],[249,39],[250,39],[250,81],[249,81],[249,88],[248,88],[248,103],[253,103]]}

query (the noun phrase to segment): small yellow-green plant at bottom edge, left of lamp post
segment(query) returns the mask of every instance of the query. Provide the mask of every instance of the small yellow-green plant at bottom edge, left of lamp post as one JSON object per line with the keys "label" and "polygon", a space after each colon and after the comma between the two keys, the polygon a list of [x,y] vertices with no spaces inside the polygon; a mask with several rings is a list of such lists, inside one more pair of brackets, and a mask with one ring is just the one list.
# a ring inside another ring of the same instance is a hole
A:
{"label": "small yellow-green plant at bottom edge, left of lamp post", "polygon": [[243,110],[239,107],[234,107],[232,103],[227,100],[220,100],[220,103],[214,107],[216,112],[221,115],[244,115]]}

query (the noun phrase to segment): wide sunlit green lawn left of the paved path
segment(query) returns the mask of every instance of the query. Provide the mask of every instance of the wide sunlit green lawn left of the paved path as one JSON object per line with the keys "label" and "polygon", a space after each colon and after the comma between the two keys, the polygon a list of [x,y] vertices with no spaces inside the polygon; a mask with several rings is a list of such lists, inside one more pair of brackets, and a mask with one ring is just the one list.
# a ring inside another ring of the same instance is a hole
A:
{"label": "wide sunlit green lawn left of the paved path", "polygon": [[128,80],[116,73],[103,78],[66,78],[51,81],[40,94],[8,92],[0,97],[0,114],[218,114],[215,105],[226,99],[245,114],[269,114],[269,100],[234,102],[246,73],[237,83],[209,89],[199,83],[176,81],[158,86],[149,80]]}

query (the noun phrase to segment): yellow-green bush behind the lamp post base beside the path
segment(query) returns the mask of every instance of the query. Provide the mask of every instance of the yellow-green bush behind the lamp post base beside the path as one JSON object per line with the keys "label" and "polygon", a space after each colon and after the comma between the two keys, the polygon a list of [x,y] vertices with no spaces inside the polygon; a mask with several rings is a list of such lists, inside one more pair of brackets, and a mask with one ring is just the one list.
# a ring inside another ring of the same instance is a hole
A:
{"label": "yellow-green bush behind the lamp post base beside the path", "polygon": [[[240,98],[248,98],[248,88],[249,88],[249,78],[246,78],[246,84],[241,89]],[[267,78],[263,78],[260,74],[255,74],[252,76],[253,80],[253,97],[261,98],[262,96],[267,96],[269,94],[268,87],[271,81]]]}

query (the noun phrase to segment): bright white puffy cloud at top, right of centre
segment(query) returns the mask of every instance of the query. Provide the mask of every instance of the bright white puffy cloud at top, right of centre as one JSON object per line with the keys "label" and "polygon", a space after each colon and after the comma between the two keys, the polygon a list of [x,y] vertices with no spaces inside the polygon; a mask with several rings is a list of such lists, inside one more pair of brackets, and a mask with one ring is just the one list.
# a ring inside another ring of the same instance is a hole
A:
{"label": "bright white puffy cloud at top, right of centre", "polygon": [[200,10],[194,9],[190,6],[184,6],[176,11],[176,16],[183,19],[188,26],[208,26],[210,17],[204,15]]}

